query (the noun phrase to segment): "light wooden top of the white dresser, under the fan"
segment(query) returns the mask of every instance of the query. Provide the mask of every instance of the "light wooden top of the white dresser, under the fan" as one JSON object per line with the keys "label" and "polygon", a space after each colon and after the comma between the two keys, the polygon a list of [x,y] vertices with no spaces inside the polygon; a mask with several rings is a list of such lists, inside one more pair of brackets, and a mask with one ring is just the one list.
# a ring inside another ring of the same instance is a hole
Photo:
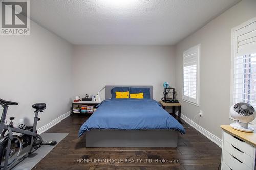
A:
{"label": "light wooden top of the white dresser, under the fan", "polygon": [[250,143],[254,147],[256,147],[256,132],[255,132],[256,130],[254,130],[253,132],[242,132],[242,131],[233,129],[230,125],[221,125],[221,128],[224,131],[226,131],[226,132],[244,140],[245,142]]}

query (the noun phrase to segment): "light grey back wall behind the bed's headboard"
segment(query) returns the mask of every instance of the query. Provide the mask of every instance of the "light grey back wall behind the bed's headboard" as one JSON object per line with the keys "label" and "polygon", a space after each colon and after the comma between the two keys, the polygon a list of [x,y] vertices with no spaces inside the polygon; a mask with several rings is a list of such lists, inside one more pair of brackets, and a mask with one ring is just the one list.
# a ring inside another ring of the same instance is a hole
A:
{"label": "light grey back wall behind the bed's headboard", "polygon": [[159,100],[164,81],[174,86],[175,48],[75,45],[72,70],[75,95],[95,95],[105,85],[153,85]]}

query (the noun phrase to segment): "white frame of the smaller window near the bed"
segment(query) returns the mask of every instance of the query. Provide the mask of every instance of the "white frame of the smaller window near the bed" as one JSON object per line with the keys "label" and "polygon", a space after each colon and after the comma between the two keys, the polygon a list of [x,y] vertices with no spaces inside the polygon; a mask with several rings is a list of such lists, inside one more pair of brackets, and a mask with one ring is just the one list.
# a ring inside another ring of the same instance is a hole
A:
{"label": "white frame of the smaller window near the bed", "polygon": [[[194,98],[189,98],[188,96],[184,95],[184,58],[185,58],[185,54],[189,53],[191,51],[197,51],[197,87],[196,87],[196,99]],[[183,52],[183,64],[182,64],[182,69],[183,69],[183,73],[182,73],[182,101],[188,102],[190,104],[199,106],[199,96],[200,96],[200,44],[189,48],[188,50]]]}

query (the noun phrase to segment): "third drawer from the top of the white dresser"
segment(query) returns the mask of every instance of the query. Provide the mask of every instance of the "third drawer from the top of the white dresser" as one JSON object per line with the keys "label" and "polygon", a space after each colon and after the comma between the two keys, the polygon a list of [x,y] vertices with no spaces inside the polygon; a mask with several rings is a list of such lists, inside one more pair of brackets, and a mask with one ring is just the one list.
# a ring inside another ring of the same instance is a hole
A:
{"label": "third drawer from the top of the white dresser", "polygon": [[241,161],[234,158],[231,154],[229,154],[226,150],[223,150],[223,162],[230,167],[232,170],[250,170],[248,166],[246,166]]}

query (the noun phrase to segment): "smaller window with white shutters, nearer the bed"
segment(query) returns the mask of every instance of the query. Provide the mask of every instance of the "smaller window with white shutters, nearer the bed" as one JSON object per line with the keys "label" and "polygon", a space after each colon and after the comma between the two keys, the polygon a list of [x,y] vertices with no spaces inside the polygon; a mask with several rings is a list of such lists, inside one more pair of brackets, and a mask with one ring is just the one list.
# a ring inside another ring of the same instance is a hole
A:
{"label": "smaller window with white shutters, nearer the bed", "polygon": [[183,95],[186,102],[199,106],[200,44],[183,53]]}

